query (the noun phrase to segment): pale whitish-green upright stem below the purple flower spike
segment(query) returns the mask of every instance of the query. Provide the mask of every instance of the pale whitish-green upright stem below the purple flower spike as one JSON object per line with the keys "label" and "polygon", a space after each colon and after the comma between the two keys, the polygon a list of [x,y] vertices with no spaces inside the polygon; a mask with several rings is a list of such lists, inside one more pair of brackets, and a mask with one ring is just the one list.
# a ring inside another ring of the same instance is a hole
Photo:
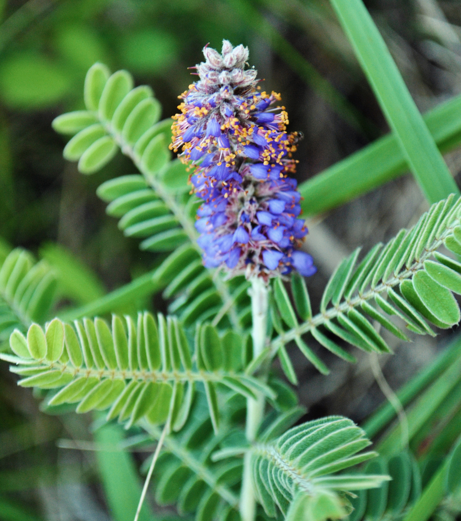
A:
{"label": "pale whitish-green upright stem below the purple flower spike", "polygon": [[[249,293],[252,298],[253,318],[253,358],[259,356],[266,346],[268,289],[264,280],[254,277]],[[264,414],[265,399],[258,393],[257,399],[247,399],[245,434],[249,443],[256,438],[259,424]],[[254,521],[256,518],[256,499],[253,490],[251,452],[247,452],[243,461],[242,492],[240,495],[240,515],[242,521]]]}

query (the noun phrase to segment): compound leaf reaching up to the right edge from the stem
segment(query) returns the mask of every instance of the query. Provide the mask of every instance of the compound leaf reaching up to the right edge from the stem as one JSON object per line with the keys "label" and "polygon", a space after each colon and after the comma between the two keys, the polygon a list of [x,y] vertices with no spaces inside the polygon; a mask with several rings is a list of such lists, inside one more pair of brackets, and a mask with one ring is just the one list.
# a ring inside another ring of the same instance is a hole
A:
{"label": "compound leaf reaching up to the right edge from the stem", "polygon": [[460,313],[453,292],[461,294],[461,264],[438,250],[445,246],[461,255],[460,218],[461,200],[455,201],[451,195],[433,204],[410,230],[402,229],[387,244],[374,246],[358,265],[360,249],[355,250],[328,281],[317,315],[312,314],[304,280],[292,278],[294,306],[282,282],[275,280],[275,306],[283,322],[276,312],[272,313],[278,336],[270,347],[273,354],[279,354],[287,376],[294,381],[284,348],[293,340],[315,367],[324,374],[328,372],[309,348],[309,340],[301,338],[306,333],[353,362],[353,356],[338,341],[364,351],[390,352],[373,321],[402,340],[408,340],[405,332],[389,316],[396,315],[407,330],[432,336],[435,333],[428,322],[444,329],[457,324]]}

